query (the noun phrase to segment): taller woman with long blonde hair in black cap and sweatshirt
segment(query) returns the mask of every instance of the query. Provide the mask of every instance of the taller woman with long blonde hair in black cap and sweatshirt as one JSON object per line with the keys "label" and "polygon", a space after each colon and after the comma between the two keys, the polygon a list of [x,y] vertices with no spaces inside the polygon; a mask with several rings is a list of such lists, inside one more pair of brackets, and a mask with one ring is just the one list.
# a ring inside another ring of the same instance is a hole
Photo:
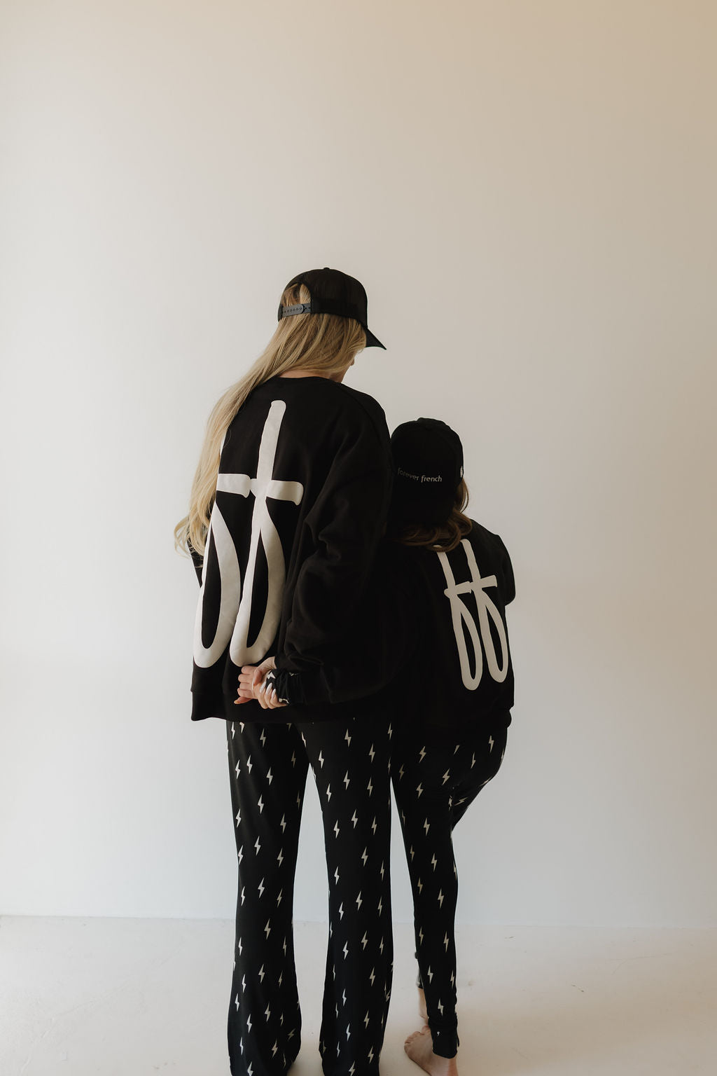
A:
{"label": "taller woman with long blonde hair in black cap and sweatshirt", "polygon": [[290,281],[269,345],[212,412],[175,532],[201,565],[192,720],[227,721],[239,860],[233,1076],[283,1074],[299,1052],[291,910],[309,766],[329,873],[324,1072],[378,1072],[392,955],[387,711],[341,685],[330,702],[281,714],[233,707],[241,666],[274,654],[311,696],[362,614],[391,481],[384,412],[342,384],[364,346],[383,344],[357,280],[317,269]]}

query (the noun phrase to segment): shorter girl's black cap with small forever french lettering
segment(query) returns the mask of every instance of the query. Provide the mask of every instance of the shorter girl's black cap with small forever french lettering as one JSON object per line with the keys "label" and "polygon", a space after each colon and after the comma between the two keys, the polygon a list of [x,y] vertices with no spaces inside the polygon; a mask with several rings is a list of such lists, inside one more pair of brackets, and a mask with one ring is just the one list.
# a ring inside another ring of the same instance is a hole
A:
{"label": "shorter girl's black cap with small forever french lettering", "polygon": [[391,435],[396,523],[445,523],[463,477],[458,434],[439,419],[416,419]]}

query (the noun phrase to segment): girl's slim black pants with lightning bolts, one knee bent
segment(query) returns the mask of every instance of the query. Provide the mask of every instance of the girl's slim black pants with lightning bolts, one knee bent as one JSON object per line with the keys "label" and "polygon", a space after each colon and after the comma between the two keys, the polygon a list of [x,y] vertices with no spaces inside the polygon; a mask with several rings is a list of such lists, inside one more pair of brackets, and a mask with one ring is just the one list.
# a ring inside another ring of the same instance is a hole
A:
{"label": "girl's slim black pants with lightning bolts, one knee bent", "polygon": [[433,1052],[458,1049],[456,903],[453,830],[503,761],[507,728],[461,744],[395,736],[392,780],[413,889],[418,986],[426,994]]}

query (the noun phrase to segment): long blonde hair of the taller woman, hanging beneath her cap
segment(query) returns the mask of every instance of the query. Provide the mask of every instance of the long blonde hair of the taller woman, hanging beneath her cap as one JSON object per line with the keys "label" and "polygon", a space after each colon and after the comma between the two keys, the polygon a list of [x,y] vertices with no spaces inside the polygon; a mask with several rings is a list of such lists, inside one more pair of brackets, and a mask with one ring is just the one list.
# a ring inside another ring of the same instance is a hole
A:
{"label": "long blonde hair of the taller woman, hanging beneath her cap", "polygon": [[[305,284],[295,284],[282,294],[282,306],[309,302]],[[292,314],[283,317],[264,351],[250,370],[224,393],[214,405],[206,423],[204,444],[191,484],[189,512],[174,528],[177,549],[204,552],[214,498],[221,442],[236,412],[249,393],[270,378],[288,370],[307,370],[318,374],[340,374],[365,348],[365,332],[358,322],[335,314]]]}

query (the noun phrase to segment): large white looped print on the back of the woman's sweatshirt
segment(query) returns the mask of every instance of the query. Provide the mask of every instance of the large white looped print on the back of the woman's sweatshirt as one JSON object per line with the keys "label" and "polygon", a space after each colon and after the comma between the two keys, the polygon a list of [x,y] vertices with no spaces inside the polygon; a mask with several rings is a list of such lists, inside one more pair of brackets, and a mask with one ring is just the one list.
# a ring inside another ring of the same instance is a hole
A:
{"label": "large white looped print on the back of the woman's sweatshirt", "polygon": [[[206,548],[209,549],[210,539],[212,539],[219,567],[219,615],[214,638],[210,646],[205,647],[202,639],[204,586],[209,564],[209,556],[205,556],[202,589],[195,621],[195,662],[201,668],[214,665],[224,653],[228,642],[230,643],[229,656],[234,665],[241,666],[260,661],[266,655],[276,634],[281,619],[286,566],[282,539],[269,514],[268,501],[270,499],[287,500],[299,505],[304,492],[301,482],[282,481],[273,477],[278,435],[285,412],[286,404],[284,400],[272,401],[261,434],[256,478],[233,473],[217,476],[217,492],[233,493],[240,497],[248,497],[249,493],[254,494],[252,537],[244,586],[242,587],[236,549],[221,510],[217,501],[214,501],[210,534],[206,536]],[[259,541],[263,546],[269,569],[267,607],[259,633],[249,646],[249,620]]]}

